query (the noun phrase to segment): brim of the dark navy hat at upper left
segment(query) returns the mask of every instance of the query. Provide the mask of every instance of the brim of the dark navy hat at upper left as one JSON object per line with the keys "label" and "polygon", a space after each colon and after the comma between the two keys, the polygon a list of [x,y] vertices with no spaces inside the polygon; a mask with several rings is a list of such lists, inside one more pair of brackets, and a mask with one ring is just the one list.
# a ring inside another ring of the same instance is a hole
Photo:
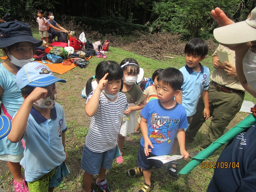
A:
{"label": "brim of the dark navy hat at upper left", "polygon": [[0,48],[8,47],[19,42],[31,42],[35,44],[36,47],[40,47],[43,44],[41,40],[38,40],[30,35],[23,35],[19,36],[18,38],[14,36],[13,38],[2,39]]}

